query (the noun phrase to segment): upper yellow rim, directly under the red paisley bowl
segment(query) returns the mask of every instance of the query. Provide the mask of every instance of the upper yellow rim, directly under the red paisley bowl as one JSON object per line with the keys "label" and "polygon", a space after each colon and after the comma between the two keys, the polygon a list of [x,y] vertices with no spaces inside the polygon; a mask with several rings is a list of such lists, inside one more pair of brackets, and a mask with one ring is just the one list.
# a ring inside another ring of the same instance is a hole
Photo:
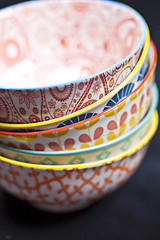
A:
{"label": "upper yellow rim, directly under the red paisley bowl", "polygon": [[[147,23],[146,23],[147,25]],[[37,127],[37,126],[42,126],[42,125],[48,125],[51,123],[56,123],[59,121],[65,121],[69,118],[72,118],[74,116],[80,115],[81,113],[84,113],[84,111],[87,111],[93,107],[96,107],[98,104],[100,104],[101,102],[105,101],[107,98],[109,98],[110,96],[114,95],[115,93],[117,93],[123,86],[125,86],[125,84],[134,76],[134,74],[136,73],[136,71],[138,70],[138,68],[141,66],[144,58],[146,57],[148,48],[149,48],[149,43],[150,43],[150,32],[149,32],[149,28],[147,25],[147,36],[146,36],[146,41],[145,41],[145,46],[142,52],[142,55],[140,57],[140,60],[138,61],[137,65],[135,66],[135,68],[133,69],[133,71],[129,74],[129,76],[118,86],[116,87],[112,92],[110,92],[109,94],[107,94],[105,97],[103,97],[102,99],[98,100],[97,102],[93,103],[92,105],[83,108],[77,112],[74,112],[72,114],[60,117],[60,118],[56,118],[53,120],[49,120],[49,121],[45,121],[45,122],[37,122],[37,123],[26,123],[26,124],[11,124],[11,123],[0,123],[0,127],[6,127],[6,128],[26,128],[26,127]]]}

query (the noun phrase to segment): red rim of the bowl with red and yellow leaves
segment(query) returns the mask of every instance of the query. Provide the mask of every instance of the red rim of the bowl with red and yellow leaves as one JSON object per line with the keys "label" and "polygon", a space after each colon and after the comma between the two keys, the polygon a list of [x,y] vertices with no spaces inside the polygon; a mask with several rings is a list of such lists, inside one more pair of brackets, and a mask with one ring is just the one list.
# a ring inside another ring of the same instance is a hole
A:
{"label": "red rim of the bowl with red and yellow leaves", "polygon": [[[120,102],[116,103],[114,106],[112,106],[111,108],[105,110],[104,112],[101,112],[91,118],[85,119],[81,122],[77,122],[71,125],[67,125],[64,127],[60,127],[60,128],[55,128],[55,129],[50,129],[50,130],[42,130],[42,131],[37,131],[37,132],[9,132],[9,131],[0,131],[0,134],[4,134],[4,135],[12,135],[12,136],[33,136],[33,135],[41,135],[41,134],[46,134],[46,133],[54,133],[54,132],[60,132],[66,129],[71,129],[75,126],[80,126],[81,124],[85,124],[88,121],[97,119],[99,117],[101,117],[104,114],[109,113],[110,111],[114,110],[117,106],[119,106],[120,104],[122,104],[123,102],[125,102],[127,99],[129,99],[131,96],[133,96],[145,83],[145,81],[149,80],[152,77],[153,72],[155,71],[156,68],[156,64],[157,64],[157,49],[156,46],[154,44],[154,42],[152,40],[150,40],[150,45],[153,48],[153,61],[151,63],[151,66],[149,67],[149,70],[145,76],[145,78],[143,79],[143,81],[141,82],[141,84],[133,91],[131,92],[128,96],[126,96],[125,98],[123,98]],[[1,123],[0,123],[1,126]]]}

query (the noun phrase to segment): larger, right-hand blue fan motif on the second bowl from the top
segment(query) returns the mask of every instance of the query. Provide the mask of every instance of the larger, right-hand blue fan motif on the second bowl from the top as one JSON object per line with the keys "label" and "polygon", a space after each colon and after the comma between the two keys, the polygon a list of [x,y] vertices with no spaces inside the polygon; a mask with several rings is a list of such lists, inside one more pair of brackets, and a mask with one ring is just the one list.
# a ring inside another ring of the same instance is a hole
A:
{"label": "larger, right-hand blue fan motif on the second bowl from the top", "polygon": [[109,102],[104,107],[103,111],[113,107],[116,103],[120,102],[122,99],[127,97],[133,91],[133,88],[134,83],[129,83],[124,88],[119,90],[119,92],[116,93],[111,100],[109,100]]}

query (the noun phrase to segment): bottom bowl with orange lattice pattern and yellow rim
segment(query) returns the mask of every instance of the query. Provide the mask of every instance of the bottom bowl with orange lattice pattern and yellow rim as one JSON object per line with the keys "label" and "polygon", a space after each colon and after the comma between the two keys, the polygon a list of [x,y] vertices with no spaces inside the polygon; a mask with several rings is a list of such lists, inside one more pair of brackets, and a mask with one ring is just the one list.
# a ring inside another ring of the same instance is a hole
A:
{"label": "bottom bowl with orange lattice pattern and yellow rim", "polygon": [[14,196],[49,212],[76,211],[125,183],[142,162],[158,126],[158,114],[145,138],[116,161],[44,166],[0,157],[0,186]]}

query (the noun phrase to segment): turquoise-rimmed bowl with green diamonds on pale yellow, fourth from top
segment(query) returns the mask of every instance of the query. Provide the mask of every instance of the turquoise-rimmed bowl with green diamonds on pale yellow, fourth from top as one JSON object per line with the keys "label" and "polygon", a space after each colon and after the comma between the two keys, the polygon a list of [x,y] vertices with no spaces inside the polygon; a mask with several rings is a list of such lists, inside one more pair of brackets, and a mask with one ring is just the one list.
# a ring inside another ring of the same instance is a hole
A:
{"label": "turquoise-rimmed bowl with green diamonds on pale yellow, fourth from top", "polygon": [[109,143],[70,152],[28,151],[0,145],[0,154],[21,162],[46,165],[82,164],[103,159],[114,160],[117,155],[123,154],[124,151],[129,150],[146,137],[149,128],[154,124],[154,118],[151,119],[151,117],[158,105],[158,95],[158,88],[155,85],[152,92],[152,96],[154,96],[152,105],[144,119],[127,134]]}

